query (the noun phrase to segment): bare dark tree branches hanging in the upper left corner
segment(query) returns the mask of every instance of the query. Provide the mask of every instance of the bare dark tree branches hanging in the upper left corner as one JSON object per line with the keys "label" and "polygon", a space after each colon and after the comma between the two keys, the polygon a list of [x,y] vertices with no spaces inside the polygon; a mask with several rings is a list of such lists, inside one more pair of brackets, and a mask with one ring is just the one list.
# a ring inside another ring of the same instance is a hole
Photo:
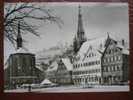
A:
{"label": "bare dark tree branches hanging in the upper left corner", "polygon": [[[41,14],[36,14],[41,13]],[[36,31],[38,25],[29,23],[33,21],[49,21],[61,26],[62,21],[59,17],[51,13],[45,6],[38,6],[35,3],[7,3],[4,8],[4,35],[13,45],[16,41],[18,21],[20,22],[21,33],[31,33],[35,36],[40,34]]]}

